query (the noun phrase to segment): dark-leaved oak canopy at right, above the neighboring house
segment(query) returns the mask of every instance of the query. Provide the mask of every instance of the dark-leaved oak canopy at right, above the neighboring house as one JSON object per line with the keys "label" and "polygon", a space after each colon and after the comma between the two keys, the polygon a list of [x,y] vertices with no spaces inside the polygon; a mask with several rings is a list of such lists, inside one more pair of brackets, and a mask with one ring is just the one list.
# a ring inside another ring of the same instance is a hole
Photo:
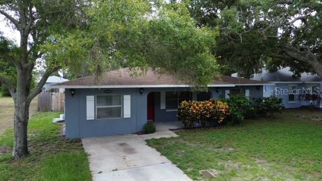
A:
{"label": "dark-leaved oak canopy at right, above the neighboring house", "polygon": [[214,53],[227,74],[290,66],[322,76],[320,0],[191,1],[190,11],[199,27],[220,30]]}

